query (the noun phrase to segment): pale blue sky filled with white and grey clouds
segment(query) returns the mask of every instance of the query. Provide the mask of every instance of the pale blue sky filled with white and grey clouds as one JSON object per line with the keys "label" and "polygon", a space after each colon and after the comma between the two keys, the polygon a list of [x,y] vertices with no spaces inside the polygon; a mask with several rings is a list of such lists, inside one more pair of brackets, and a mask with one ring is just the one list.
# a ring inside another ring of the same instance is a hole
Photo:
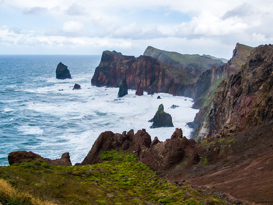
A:
{"label": "pale blue sky filled with white and grey clouds", "polygon": [[230,59],[273,43],[272,0],[0,0],[0,54],[142,55],[147,46]]}

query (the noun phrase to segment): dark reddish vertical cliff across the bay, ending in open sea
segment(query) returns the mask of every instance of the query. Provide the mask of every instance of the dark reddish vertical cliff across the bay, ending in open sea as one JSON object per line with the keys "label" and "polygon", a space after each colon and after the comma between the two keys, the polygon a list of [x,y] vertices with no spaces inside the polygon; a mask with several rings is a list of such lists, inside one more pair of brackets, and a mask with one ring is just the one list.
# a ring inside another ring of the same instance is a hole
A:
{"label": "dark reddish vertical cliff across the bay, ending in open sea", "polygon": [[128,89],[187,95],[185,87],[194,83],[194,75],[150,56],[123,56],[104,51],[91,84],[97,87],[119,87],[126,73]]}

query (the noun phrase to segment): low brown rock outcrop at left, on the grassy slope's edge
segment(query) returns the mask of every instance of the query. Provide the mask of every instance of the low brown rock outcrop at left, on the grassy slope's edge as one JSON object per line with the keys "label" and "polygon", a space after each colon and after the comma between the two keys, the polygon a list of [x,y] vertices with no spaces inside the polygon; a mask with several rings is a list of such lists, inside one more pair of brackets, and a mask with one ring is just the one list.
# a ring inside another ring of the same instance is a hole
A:
{"label": "low brown rock outcrop at left, on the grassy slope's edge", "polygon": [[27,161],[44,161],[49,163],[52,166],[71,166],[69,152],[63,153],[60,159],[48,159],[43,158],[40,155],[37,155],[33,152],[26,152],[26,151],[16,151],[11,152],[8,155],[8,163],[10,165],[14,163],[22,163]]}

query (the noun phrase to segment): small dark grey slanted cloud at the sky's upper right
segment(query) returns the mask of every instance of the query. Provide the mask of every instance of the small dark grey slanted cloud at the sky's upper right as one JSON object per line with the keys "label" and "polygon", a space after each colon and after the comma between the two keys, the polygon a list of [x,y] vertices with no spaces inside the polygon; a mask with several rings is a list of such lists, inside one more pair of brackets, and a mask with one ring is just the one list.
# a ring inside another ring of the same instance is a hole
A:
{"label": "small dark grey slanted cloud at the sky's upper right", "polygon": [[228,19],[231,17],[244,17],[250,15],[252,12],[253,6],[249,3],[243,3],[234,9],[227,11],[223,16],[222,19]]}

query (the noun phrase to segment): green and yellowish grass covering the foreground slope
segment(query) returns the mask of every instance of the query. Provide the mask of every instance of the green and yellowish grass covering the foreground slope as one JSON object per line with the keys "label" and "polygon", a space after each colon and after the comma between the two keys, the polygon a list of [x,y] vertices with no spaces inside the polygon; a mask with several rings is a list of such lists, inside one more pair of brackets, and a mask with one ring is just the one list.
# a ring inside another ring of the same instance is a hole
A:
{"label": "green and yellowish grass covering the foreground slope", "polygon": [[86,166],[53,167],[40,161],[0,167],[0,202],[202,205],[211,198],[224,204],[189,185],[170,183],[149,166],[136,162],[131,153],[107,151],[102,158],[108,161]]}

